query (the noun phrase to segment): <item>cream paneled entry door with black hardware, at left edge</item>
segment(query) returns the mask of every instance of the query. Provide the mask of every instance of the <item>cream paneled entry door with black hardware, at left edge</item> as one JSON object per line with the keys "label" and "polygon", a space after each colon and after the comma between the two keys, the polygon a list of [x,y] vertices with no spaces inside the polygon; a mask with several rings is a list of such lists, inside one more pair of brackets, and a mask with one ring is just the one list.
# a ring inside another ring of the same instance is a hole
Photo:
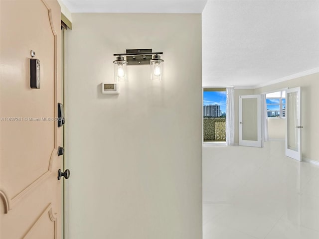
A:
{"label": "cream paneled entry door with black hardware, at left edge", "polygon": [[0,0],[0,239],[61,238],[60,14],[56,0]]}

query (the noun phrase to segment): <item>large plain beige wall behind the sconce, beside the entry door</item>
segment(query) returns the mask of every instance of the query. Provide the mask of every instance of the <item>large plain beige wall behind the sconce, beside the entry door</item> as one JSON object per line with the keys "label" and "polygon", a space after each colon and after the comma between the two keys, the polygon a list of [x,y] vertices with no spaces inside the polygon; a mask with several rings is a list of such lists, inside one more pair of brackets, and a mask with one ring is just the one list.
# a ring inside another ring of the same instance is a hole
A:
{"label": "large plain beige wall behind the sconce, beside the entry door", "polygon": [[[68,239],[201,239],[201,15],[72,14],[66,36]],[[163,51],[164,80],[114,53]]]}

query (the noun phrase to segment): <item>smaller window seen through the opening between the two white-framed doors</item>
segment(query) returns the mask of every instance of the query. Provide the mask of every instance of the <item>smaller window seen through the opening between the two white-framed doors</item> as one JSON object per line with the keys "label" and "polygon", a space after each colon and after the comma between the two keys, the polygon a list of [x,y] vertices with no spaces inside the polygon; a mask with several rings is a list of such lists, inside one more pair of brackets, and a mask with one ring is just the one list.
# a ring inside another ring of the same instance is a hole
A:
{"label": "smaller window seen through the opening between the two white-framed doors", "polygon": [[266,94],[268,118],[286,118],[286,91]]}

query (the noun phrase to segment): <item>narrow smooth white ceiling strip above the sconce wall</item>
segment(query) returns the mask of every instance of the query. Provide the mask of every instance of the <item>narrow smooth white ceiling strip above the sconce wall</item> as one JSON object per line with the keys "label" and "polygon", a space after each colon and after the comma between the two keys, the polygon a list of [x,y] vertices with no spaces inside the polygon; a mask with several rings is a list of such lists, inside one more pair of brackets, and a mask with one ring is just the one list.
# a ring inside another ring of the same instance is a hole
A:
{"label": "narrow smooth white ceiling strip above the sconce wall", "polygon": [[207,0],[62,0],[71,12],[201,13]]}

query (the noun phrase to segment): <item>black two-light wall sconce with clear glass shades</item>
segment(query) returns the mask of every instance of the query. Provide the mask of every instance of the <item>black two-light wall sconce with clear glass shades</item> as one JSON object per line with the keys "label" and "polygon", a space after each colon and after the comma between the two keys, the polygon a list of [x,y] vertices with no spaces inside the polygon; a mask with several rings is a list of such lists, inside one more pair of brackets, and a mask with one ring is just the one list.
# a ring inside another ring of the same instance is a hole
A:
{"label": "black two-light wall sconce with clear glass shades", "polygon": [[[114,63],[114,80],[127,80],[127,65],[150,65],[151,80],[162,80],[163,60],[160,59],[162,52],[153,52],[152,49],[133,49],[126,50],[126,53],[114,54],[116,60]],[[126,61],[124,60],[126,56]]]}

